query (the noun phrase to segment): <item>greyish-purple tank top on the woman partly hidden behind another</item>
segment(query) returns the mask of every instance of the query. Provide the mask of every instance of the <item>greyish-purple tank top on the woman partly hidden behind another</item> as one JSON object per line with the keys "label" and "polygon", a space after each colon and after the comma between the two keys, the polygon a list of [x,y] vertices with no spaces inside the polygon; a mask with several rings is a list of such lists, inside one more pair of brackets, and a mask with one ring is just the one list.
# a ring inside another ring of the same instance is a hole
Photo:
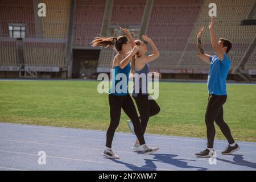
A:
{"label": "greyish-purple tank top on the woman partly hidden behind another", "polygon": [[[150,70],[150,68],[149,68],[149,65],[147,63],[140,70],[137,70],[135,68],[135,65],[134,65],[133,89],[131,91],[133,97],[138,96],[139,90],[141,90],[141,93],[143,95],[147,94],[147,87],[148,87],[147,74],[149,73],[149,70]],[[136,77],[138,77],[138,78],[136,78]],[[139,90],[136,90],[135,86],[136,87],[139,86]]]}

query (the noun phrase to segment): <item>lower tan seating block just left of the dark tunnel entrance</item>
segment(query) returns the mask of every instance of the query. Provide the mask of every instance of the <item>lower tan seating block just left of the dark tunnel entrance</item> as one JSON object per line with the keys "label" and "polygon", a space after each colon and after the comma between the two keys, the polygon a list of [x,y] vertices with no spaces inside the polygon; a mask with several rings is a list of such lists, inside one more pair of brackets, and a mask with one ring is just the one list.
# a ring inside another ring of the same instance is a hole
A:
{"label": "lower tan seating block just left of the dark tunnel entrance", "polygon": [[65,66],[65,43],[23,43],[24,60],[31,67]]}

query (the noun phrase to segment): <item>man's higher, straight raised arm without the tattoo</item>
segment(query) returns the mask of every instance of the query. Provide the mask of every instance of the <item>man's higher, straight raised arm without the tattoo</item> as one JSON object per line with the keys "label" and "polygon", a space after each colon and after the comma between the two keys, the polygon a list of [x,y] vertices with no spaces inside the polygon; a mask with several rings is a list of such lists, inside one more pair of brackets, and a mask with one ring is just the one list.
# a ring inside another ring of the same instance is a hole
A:
{"label": "man's higher, straight raised arm without the tattoo", "polygon": [[210,23],[209,23],[210,42],[212,43],[212,48],[216,53],[216,55],[218,56],[218,59],[222,61],[224,59],[224,53],[222,52],[220,45],[218,44],[218,40],[214,34],[213,24],[214,24],[214,19],[210,18]]}

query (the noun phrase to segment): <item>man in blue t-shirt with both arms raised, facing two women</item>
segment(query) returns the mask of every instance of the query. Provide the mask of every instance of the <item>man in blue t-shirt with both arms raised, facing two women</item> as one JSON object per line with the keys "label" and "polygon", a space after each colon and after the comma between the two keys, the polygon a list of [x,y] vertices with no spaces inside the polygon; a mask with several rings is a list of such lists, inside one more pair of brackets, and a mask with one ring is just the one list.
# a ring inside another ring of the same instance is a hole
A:
{"label": "man in blue t-shirt with both arms raised, facing two women", "polygon": [[210,56],[204,53],[201,36],[204,32],[204,27],[201,28],[197,35],[197,55],[206,63],[210,64],[208,74],[208,105],[205,113],[205,124],[207,126],[207,148],[196,154],[197,157],[210,158],[214,155],[213,142],[215,137],[214,121],[220,127],[229,142],[228,147],[221,154],[228,155],[239,150],[238,144],[234,141],[229,126],[223,119],[223,105],[226,102],[226,77],[228,76],[230,60],[227,56],[232,48],[230,40],[221,38],[217,40],[213,31],[214,19],[210,18],[209,31],[212,47],[216,55]]}

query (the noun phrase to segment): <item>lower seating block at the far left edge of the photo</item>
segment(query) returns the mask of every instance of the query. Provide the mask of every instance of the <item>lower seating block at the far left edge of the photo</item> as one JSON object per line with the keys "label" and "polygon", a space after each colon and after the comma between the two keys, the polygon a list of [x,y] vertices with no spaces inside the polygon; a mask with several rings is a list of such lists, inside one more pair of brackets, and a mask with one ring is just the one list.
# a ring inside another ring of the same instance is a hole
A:
{"label": "lower seating block at the far left edge of the photo", "polygon": [[15,42],[0,41],[0,66],[18,66]]}

